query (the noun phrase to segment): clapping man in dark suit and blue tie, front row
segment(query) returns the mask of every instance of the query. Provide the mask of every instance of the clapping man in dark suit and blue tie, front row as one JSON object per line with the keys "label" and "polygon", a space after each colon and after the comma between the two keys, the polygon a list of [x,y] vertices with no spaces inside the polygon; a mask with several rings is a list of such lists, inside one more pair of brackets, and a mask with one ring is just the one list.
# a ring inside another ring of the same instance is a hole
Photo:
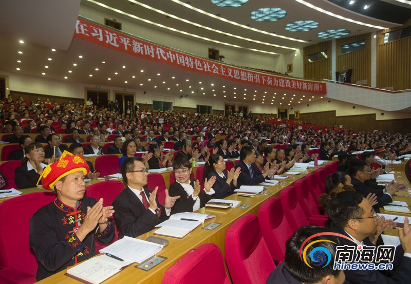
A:
{"label": "clapping man in dark suit and blue tie, front row", "polygon": [[[237,186],[241,185],[255,185],[265,181],[269,175],[270,169],[267,163],[264,167],[264,173],[261,173],[255,165],[255,150],[253,146],[245,146],[240,150],[240,161],[235,165],[235,168],[241,168],[241,173],[237,179]],[[270,178],[274,174],[270,175]]]}

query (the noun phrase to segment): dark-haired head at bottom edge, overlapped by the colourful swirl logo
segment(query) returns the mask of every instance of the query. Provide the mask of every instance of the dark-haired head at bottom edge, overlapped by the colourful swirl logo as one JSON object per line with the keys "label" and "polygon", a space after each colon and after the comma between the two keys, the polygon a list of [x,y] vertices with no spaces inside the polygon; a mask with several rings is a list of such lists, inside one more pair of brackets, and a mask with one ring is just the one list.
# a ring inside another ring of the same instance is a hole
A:
{"label": "dark-haired head at bottom edge, overlapped by the colourful swirl logo", "polygon": [[[267,284],[342,284],[345,280],[344,270],[334,270],[333,263],[337,246],[341,244],[340,237],[331,236],[329,230],[317,226],[303,226],[298,229],[286,242],[284,262],[268,276]],[[325,233],[322,236],[311,238],[315,234]],[[307,242],[306,242],[307,241]],[[306,242],[306,243],[305,243]],[[304,250],[307,263],[300,255],[301,247]],[[319,251],[316,251],[319,250]],[[323,252],[329,252],[325,255]],[[313,254],[313,256],[311,256]],[[329,265],[319,266],[319,255],[322,261],[330,261]],[[331,257],[331,259],[328,259]],[[324,259],[326,258],[326,259]],[[308,264],[308,265],[307,265]]]}

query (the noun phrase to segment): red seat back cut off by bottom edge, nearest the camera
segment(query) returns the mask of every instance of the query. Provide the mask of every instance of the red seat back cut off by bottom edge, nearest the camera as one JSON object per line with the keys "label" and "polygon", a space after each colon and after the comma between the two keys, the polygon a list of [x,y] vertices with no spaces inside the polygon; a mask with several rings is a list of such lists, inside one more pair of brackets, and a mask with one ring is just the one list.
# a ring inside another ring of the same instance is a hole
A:
{"label": "red seat back cut off by bottom edge, nearest the camera", "polygon": [[230,284],[221,251],[214,243],[202,244],[182,256],[164,273],[163,284]]}

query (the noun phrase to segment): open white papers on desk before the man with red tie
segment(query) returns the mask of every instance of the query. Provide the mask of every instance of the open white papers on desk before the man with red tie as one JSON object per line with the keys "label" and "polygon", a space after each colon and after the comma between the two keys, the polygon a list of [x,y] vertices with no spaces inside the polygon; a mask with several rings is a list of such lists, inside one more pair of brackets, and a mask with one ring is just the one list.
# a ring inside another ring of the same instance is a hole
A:
{"label": "open white papers on desk before the man with red tie", "polygon": [[124,238],[108,245],[108,247],[103,248],[100,252],[109,253],[124,260],[133,260],[140,263],[147,258],[154,256],[161,251],[162,248],[162,244],[124,236]]}

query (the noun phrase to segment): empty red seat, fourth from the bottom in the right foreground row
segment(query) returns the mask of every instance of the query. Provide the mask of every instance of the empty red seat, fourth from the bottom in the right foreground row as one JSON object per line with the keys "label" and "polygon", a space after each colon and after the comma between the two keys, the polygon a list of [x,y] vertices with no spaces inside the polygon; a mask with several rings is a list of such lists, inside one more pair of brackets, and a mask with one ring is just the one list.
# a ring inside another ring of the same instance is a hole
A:
{"label": "empty red seat, fourth from the bottom in the right foreground row", "polygon": [[326,220],[319,217],[310,217],[309,219],[305,215],[300,203],[297,200],[294,186],[287,186],[283,188],[279,194],[281,204],[283,205],[284,213],[287,217],[288,223],[291,226],[293,232],[295,232],[301,226],[317,225],[324,226]]}

